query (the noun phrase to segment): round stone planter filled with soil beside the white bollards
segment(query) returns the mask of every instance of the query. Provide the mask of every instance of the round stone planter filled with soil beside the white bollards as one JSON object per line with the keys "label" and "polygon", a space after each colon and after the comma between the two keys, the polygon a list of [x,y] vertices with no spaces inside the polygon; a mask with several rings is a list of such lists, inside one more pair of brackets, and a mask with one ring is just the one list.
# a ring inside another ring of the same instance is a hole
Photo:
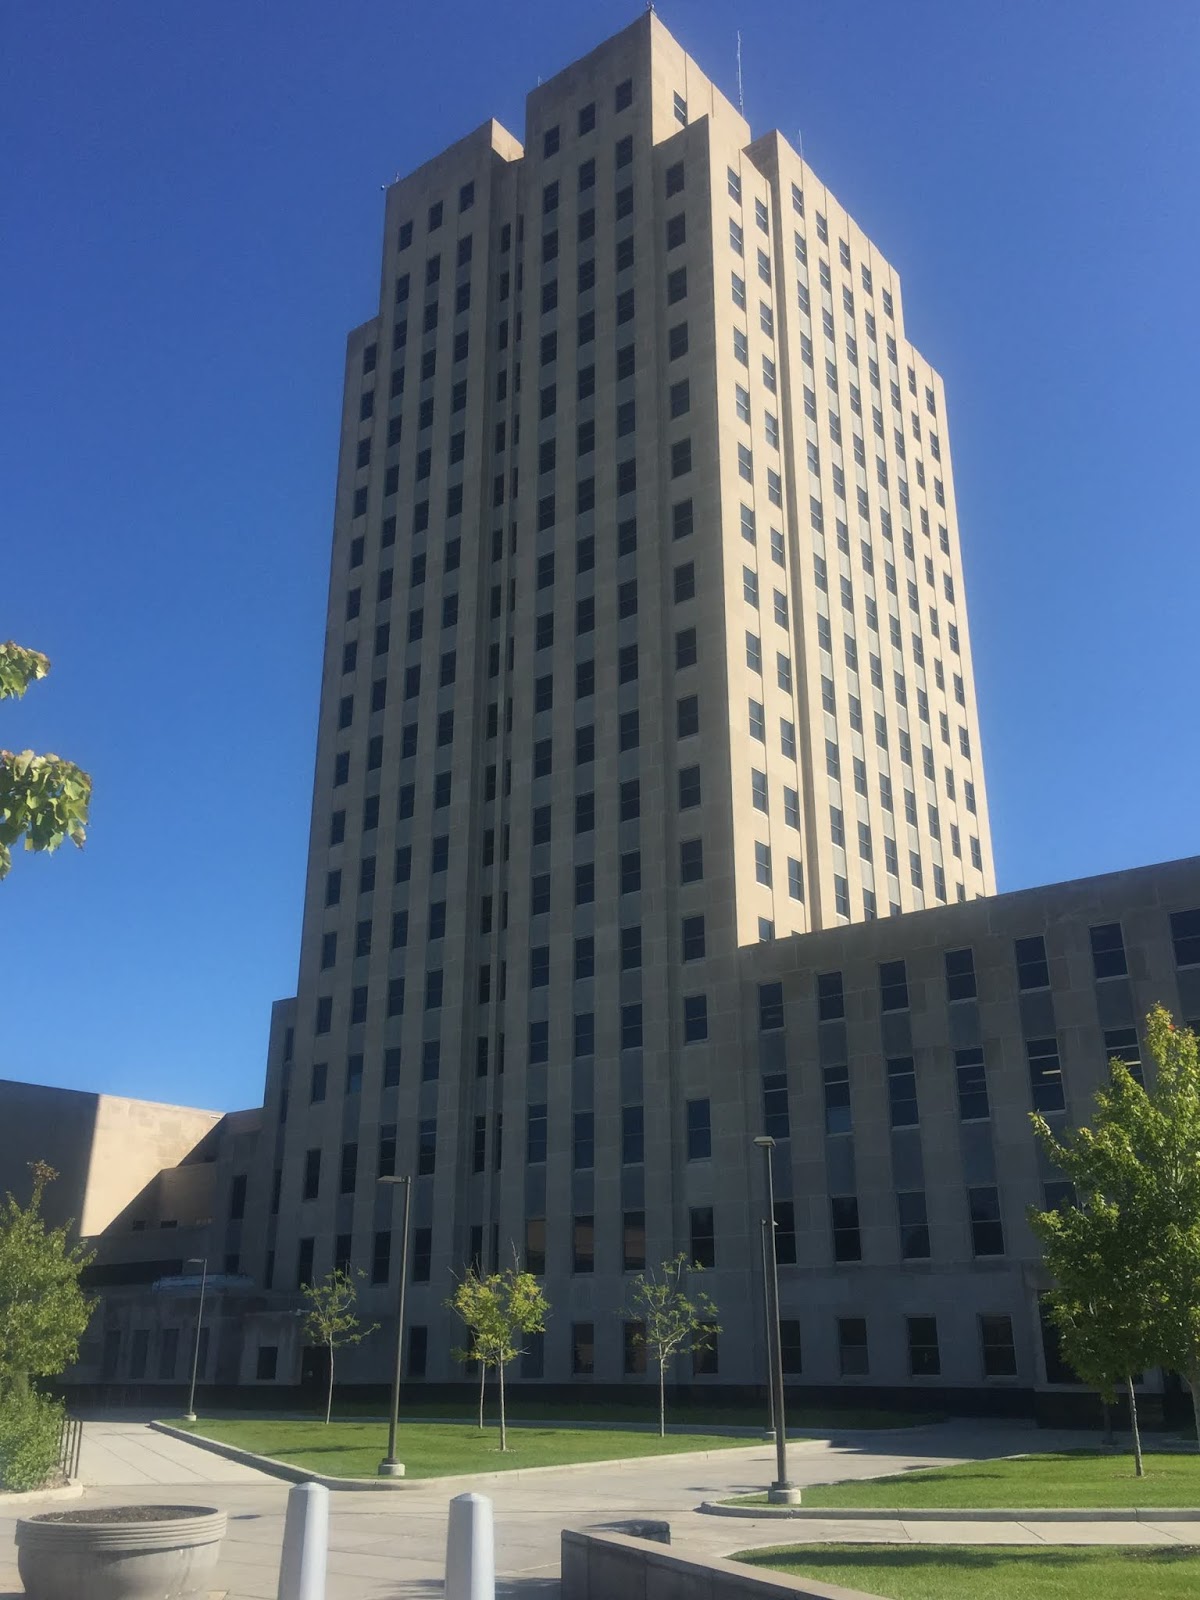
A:
{"label": "round stone planter filled with soil beside the white bollards", "polygon": [[21,1517],[29,1600],[176,1600],[210,1587],[226,1514],[210,1506],[98,1506]]}

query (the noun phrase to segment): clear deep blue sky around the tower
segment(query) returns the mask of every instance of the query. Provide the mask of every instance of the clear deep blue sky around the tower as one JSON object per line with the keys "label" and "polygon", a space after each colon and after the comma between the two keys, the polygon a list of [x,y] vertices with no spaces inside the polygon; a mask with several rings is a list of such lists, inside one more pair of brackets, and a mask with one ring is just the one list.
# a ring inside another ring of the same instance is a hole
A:
{"label": "clear deep blue sky around the tower", "polygon": [[[94,774],[0,885],[0,1074],[258,1104],[293,992],[346,331],[381,184],[637,14],[11,5],[0,742]],[[941,368],[1002,888],[1197,838],[1187,0],[667,0],[904,280]]]}

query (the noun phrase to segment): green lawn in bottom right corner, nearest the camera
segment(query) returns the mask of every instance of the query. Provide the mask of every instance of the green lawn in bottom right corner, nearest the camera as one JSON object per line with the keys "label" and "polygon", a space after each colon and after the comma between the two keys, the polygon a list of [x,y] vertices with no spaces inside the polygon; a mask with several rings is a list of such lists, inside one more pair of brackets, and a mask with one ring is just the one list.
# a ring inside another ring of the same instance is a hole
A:
{"label": "green lawn in bottom right corner, nearest the camera", "polygon": [[798,1544],[742,1550],[771,1566],[886,1600],[1195,1600],[1195,1546]]}

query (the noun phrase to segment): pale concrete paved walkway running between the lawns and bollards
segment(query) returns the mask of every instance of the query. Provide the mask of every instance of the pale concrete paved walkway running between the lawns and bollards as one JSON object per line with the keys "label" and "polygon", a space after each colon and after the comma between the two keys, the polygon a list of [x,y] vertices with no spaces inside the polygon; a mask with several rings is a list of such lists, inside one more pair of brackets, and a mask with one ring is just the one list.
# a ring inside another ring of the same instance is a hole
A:
{"label": "pale concrete paved walkway running between the lawns and bollards", "polygon": [[[1059,1450],[1091,1435],[1048,1434],[1022,1424],[949,1422],[902,1434],[848,1434],[837,1440],[789,1445],[797,1483],[878,1477],[907,1467]],[[229,1534],[214,1579],[229,1600],[275,1600],[288,1485],[251,1467],[155,1434],[139,1422],[85,1424],[82,1504],[149,1499],[219,1506]],[[1200,1523],[936,1523],[781,1522],[712,1517],[704,1499],[765,1486],[774,1451],[757,1443],[706,1461],[666,1456],[632,1466],[597,1464],[586,1472],[514,1477],[480,1485],[496,1510],[496,1570],[512,1600],[555,1600],[558,1536],[634,1517],[662,1517],[680,1552],[725,1555],[762,1544],[952,1542],[952,1544],[1200,1544]],[[470,1478],[461,1480],[464,1493]],[[394,1494],[334,1493],[330,1528],[328,1600],[432,1600],[442,1590],[450,1493],[411,1488]],[[80,1502],[77,1502],[80,1504]],[[22,1507],[26,1514],[35,1507]],[[0,1517],[0,1600],[19,1594],[13,1550],[14,1518]]]}

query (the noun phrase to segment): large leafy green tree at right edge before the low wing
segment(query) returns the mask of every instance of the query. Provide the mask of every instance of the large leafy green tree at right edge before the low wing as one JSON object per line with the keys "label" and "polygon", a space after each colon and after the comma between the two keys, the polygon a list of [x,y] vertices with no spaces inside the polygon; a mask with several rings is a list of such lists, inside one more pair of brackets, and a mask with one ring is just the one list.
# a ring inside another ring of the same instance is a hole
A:
{"label": "large leafy green tree at right edge before the low wing", "polygon": [[1136,1366],[1182,1373],[1200,1442],[1200,1051],[1195,1034],[1160,1005],[1146,1019],[1146,1040],[1157,1064],[1150,1088],[1114,1061],[1091,1126],[1066,1139],[1038,1115],[1034,1126],[1075,1184],[1085,1219],[1072,1224],[1074,1253],[1061,1246],[1064,1269],[1075,1272],[1061,1288],[1077,1320],[1088,1304],[1114,1318],[1110,1333],[1088,1336],[1090,1373],[1107,1368],[1112,1379],[1114,1363],[1126,1378]]}

